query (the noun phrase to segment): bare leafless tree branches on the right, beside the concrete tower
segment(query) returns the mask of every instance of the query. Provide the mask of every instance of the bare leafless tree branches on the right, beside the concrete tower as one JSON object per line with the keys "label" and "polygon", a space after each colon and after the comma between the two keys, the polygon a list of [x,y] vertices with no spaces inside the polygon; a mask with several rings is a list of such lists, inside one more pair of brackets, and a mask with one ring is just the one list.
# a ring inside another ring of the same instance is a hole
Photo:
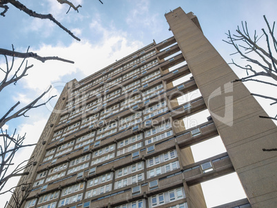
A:
{"label": "bare leafless tree branches on the right, beside the concrete tower", "polygon": [[[254,35],[251,36],[248,31],[247,22],[241,23],[241,29],[240,27],[237,28],[236,34],[231,35],[231,32],[228,30],[226,33],[227,35],[227,41],[225,41],[227,44],[231,44],[235,48],[235,53],[232,53],[232,55],[240,55],[241,59],[245,59],[247,63],[246,66],[241,66],[240,64],[236,64],[234,60],[232,59],[232,63],[238,68],[242,68],[246,71],[247,77],[243,77],[240,79],[235,79],[232,82],[258,82],[261,84],[267,84],[269,86],[277,86],[277,59],[276,59],[276,53],[277,53],[277,41],[276,37],[274,37],[274,26],[275,22],[272,26],[272,28],[269,26],[269,22],[267,21],[266,17],[264,16],[265,22],[267,24],[267,29],[269,31],[269,35],[267,35],[267,32],[265,29],[261,29],[263,31],[262,35],[257,35],[256,30],[254,31]],[[263,43],[258,44],[258,41],[260,41],[261,37],[264,37],[266,47],[263,48]],[[273,43],[273,44],[272,44]],[[272,46],[273,45],[273,46]],[[274,48],[275,50],[271,50],[271,48]],[[253,56],[254,55],[254,56]],[[257,59],[258,57],[258,59]],[[257,79],[253,79],[253,77],[256,77]],[[258,77],[267,77],[267,79],[260,80]],[[273,90],[276,91],[276,90]],[[277,104],[277,98],[276,97],[269,97],[265,95],[258,95],[252,93],[254,96],[263,97],[265,99],[274,100],[273,104]],[[270,118],[272,120],[277,120],[276,117],[265,117],[260,116],[264,118]]]}

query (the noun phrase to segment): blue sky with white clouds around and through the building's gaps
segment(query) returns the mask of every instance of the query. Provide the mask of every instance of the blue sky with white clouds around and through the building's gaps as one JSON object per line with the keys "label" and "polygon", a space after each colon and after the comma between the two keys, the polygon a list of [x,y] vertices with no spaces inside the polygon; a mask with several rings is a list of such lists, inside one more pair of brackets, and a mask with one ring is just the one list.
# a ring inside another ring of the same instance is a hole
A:
{"label": "blue sky with white clouds around and through the building's gaps", "polygon": [[[177,7],[185,12],[194,12],[198,17],[204,35],[223,56],[226,62],[231,62],[229,55],[234,53],[232,46],[222,40],[227,39],[225,32],[233,33],[241,21],[247,21],[249,31],[257,30],[261,34],[261,28],[265,28],[263,15],[267,16],[269,23],[276,21],[277,1],[275,0],[72,0],[74,5],[81,4],[79,12],[70,10],[68,6],[61,5],[55,0],[21,1],[25,6],[37,13],[51,13],[63,26],[71,30],[81,41],[76,41],[68,33],[61,30],[53,22],[45,19],[34,19],[24,12],[9,6],[6,17],[0,17],[1,39],[0,48],[11,50],[12,44],[15,50],[25,52],[30,50],[41,56],[59,56],[74,61],[74,64],[65,62],[48,61],[41,63],[34,59],[28,59],[28,64],[34,64],[28,76],[8,86],[0,93],[0,115],[3,115],[17,101],[24,106],[34,100],[51,84],[54,86],[50,95],[59,95],[59,91],[66,82],[72,79],[81,80],[84,77],[114,63],[126,55],[151,44],[172,37],[172,32],[165,20],[165,13]],[[1,10],[0,10],[1,12]],[[236,57],[238,59],[238,57]],[[9,59],[10,61],[10,59]],[[19,66],[21,60],[17,59],[15,66]],[[14,66],[14,67],[15,67]],[[0,67],[6,68],[6,61],[0,56]],[[245,72],[234,68],[238,77],[245,76]],[[3,73],[0,74],[0,77]],[[253,93],[266,93],[271,95],[276,91],[267,90],[264,86],[248,84],[249,91]],[[274,107],[269,102],[257,99],[269,115],[272,115]],[[34,109],[28,113],[30,117],[21,117],[8,123],[8,131],[17,129],[23,135],[27,133],[27,142],[35,143],[43,130],[45,122],[50,116],[52,100],[48,106]],[[276,108],[275,111],[276,112]],[[275,114],[273,115],[275,116]],[[209,146],[209,148],[207,148]],[[207,151],[209,149],[209,151]],[[195,160],[203,160],[212,155],[225,151],[220,138],[214,138],[193,147]],[[20,151],[16,160],[28,158],[32,149]],[[16,180],[12,181],[16,184]],[[12,185],[12,184],[10,184]],[[232,200],[245,198],[236,173],[220,177],[214,181],[202,184],[205,200],[208,207],[223,204]],[[9,194],[1,196],[0,207],[4,207]]]}

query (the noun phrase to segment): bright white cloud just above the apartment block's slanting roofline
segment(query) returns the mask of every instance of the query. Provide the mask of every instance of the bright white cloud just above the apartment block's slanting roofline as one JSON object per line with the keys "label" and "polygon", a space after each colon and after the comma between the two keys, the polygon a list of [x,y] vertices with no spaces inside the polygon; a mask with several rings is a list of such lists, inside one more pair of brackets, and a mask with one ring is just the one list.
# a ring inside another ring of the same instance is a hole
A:
{"label": "bright white cloud just above the apartment block's slanting roofline", "polygon": [[[41,45],[34,53],[40,56],[58,56],[74,61],[68,64],[59,61],[47,61],[41,63],[37,60],[29,60],[34,67],[30,69],[29,75],[25,77],[25,88],[37,91],[45,89],[55,82],[69,82],[74,79],[74,73],[85,77],[112,64],[116,59],[138,50],[143,46],[140,41],[130,41],[124,32],[114,28],[104,28],[100,21],[92,21],[90,28],[97,28],[101,32],[101,40],[92,44],[88,40],[81,42],[73,41],[69,46],[59,44],[57,46]],[[66,76],[66,77],[64,77]],[[61,80],[63,77],[63,80]]]}

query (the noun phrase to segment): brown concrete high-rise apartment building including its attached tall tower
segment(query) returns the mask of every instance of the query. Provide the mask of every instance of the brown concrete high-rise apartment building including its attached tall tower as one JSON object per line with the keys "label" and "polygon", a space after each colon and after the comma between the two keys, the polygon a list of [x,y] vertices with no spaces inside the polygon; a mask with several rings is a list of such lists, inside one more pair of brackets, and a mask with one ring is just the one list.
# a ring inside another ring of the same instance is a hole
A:
{"label": "brown concrete high-rise apartment building including its attached tall tower", "polygon": [[[231,83],[191,12],[165,18],[173,37],[65,85],[19,181],[32,184],[25,208],[201,208],[200,183],[234,171],[247,198],[220,207],[276,205],[276,155],[262,151],[276,145],[276,125]],[[201,97],[178,103],[196,89]],[[206,108],[206,122],[184,128]],[[194,162],[190,146],[218,134],[227,152]]]}

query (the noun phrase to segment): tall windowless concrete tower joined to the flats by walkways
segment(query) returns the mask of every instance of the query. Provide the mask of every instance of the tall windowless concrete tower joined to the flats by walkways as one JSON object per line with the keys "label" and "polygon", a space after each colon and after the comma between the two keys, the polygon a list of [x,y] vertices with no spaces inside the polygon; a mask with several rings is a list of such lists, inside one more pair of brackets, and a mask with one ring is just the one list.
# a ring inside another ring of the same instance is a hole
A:
{"label": "tall windowless concrete tower joined to the flats by walkways", "polygon": [[276,152],[262,149],[276,146],[276,125],[258,117],[263,108],[242,83],[231,83],[238,77],[181,8],[165,17],[252,207],[275,207]]}

